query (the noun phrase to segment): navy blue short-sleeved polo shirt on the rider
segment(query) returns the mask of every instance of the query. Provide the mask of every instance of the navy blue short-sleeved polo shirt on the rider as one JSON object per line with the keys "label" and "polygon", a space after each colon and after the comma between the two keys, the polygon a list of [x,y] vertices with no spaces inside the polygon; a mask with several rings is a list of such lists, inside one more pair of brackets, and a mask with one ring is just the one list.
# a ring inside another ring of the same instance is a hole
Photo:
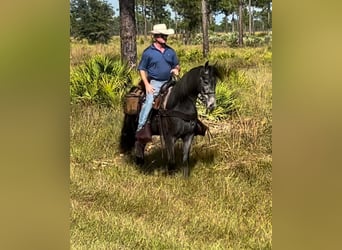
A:
{"label": "navy blue short-sleeved polo shirt on the rider", "polygon": [[171,69],[178,64],[176,52],[171,47],[166,45],[162,53],[152,44],[144,50],[138,70],[146,71],[151,79],[167,81],[171,77]]}

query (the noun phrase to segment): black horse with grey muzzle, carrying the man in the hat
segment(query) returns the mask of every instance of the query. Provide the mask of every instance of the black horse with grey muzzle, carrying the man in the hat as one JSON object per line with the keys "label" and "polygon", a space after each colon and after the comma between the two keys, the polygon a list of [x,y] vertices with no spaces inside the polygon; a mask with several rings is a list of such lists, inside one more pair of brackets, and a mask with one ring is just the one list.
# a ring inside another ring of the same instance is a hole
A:
{"label": "black horse with grey muzzle, carrying the man in the hat", "polygon": [[[189,177],[189,153],[196,133],[197,119],[196,101],[199,98],[207,111],[216,106],[216,82],[220,79],[219,70],[206,62],[198,66],[177,81],[172,87],[165,108],[152,109],[150,125],[153,135],[160,135],[166,147],[167,171],[175,169],[175,143],[179,138],[183,141],[183,174]],[[135,146],[136,163],[144,163],[146,143],[135,139],[138,115],[125,114],[121,131],[120,149],[125,153]]]}

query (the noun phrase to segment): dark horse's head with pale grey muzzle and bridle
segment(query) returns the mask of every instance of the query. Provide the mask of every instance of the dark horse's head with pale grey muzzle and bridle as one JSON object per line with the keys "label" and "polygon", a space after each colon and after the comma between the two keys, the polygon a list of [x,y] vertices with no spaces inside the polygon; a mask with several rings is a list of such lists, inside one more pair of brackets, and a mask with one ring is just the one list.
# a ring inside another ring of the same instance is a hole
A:
{"label": "dark horse's head with pale grey muzzle and bridle", "polygon": [[200,70],[199,99],[209,112],[212,112],[216,107],[215,89],[217,77],[219,77],[218,71],[215,67],[209,66],[209,62],[207,61]]}

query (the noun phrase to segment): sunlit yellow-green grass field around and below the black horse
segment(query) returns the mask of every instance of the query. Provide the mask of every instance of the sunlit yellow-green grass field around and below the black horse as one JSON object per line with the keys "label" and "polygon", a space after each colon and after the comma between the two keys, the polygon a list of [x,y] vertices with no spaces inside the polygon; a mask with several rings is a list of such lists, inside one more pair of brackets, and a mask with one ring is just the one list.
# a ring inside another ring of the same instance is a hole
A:
{"label": "sunlit yellow-green grass field around and below the black horse", "polygon": [[243,70],[246,112],[204,120],[187,180],[162,174],[158,138],[142,168],[120,155],[120,108],[71,107],[71,249],[272,248],[272,72]]}

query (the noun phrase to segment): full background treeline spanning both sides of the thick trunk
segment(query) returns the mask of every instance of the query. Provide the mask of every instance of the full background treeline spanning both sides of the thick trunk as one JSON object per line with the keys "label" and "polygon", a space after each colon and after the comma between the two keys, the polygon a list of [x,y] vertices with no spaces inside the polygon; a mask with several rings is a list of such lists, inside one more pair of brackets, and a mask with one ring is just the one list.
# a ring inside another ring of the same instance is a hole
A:
{"label": "full background treeline spanning both sides of the thick trunk", "polygon": [[[131,1],[131,0],[119,0]],[[191,36],[202,30],[203,0],[136,0],[136,34],[147,35],[156,23],[166,23],[177,34]],[[272,28],[271,0],[205,0],[209,30],[215,32],[269,31]],[[220,23],[215,16],[221,15]],[[241,16],[241,18],[240,18]],[[241,27],[240,27],[241,26]],[[70,36],[90,43],[107,43],[120,35],[119,10],[106,0],[70,0]]]}

